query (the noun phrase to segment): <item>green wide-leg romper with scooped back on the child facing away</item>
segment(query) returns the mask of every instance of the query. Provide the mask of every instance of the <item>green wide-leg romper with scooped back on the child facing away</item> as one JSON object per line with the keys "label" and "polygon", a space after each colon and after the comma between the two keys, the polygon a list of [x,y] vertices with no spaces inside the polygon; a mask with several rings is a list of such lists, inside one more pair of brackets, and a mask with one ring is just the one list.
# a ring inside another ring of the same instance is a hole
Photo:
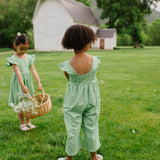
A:
{"label": "green wide-leg romper with scooped back on the child facing away", "polygon": [[[74,71],[69,60],[59,64],[69,75],[64,97],[64,121],[68,133],[66,153],[74,156],[82,148],[80,130],[84,133],[84,147],[95,152],[100,147],[98,120],[100,113],[100,92],[96,71],[100,57],[93,56],[91,70],[83,75]],[[82,124],[82,125],[81,125]]]}

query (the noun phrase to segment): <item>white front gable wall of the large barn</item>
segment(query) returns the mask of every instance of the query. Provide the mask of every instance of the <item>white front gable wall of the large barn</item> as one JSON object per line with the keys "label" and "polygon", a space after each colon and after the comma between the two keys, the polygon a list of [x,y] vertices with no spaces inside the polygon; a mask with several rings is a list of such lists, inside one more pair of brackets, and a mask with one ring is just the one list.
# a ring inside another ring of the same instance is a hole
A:
{"label": "white front gable wall of the large barn", "polygon": [[58,0],[43,2],[33,21],[35,49],[63,50],[62,37],[72,24],[73,19]]}

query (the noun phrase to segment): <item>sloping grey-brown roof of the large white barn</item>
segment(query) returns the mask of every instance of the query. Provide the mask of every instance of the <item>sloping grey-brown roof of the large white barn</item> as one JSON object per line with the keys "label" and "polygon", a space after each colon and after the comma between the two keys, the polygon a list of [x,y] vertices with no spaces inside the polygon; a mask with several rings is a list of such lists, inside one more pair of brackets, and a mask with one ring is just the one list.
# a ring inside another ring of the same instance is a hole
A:
{"label": "sloping grey-brown roof of the large white barn", "polygon": [[[34,11],[33,20],[36,16],[42,2],[45,0],[38,0],[37,5]],[[70,16],[73,18],[73,21],[76,23],[83,23],[93,26],[99,26],[99,22],[95,18],[91,9],[84,5],[83,3],[77,2],[75,0],[60,0],[63,6],[66,8]],[[32,21],[33,21],[32,20]]]}

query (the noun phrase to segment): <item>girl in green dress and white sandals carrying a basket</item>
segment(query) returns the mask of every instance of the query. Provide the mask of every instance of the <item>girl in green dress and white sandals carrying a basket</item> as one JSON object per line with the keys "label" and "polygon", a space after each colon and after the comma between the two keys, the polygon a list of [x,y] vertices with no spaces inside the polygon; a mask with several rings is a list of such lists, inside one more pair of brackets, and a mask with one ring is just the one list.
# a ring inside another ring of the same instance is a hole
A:
{"label": "girl in green dress and white sandals carrying a basket", "polygon": [[[13,44],[15,53],[11,57],[8,57],[8,66],[12,66],[14,73],[11,78],[10,94],[9,94],[9,106],[15,106],[19,101],[19,96],[23,93],[30,93],[33,95],[34,87],[30,74],[30,70],[34,79],[38,84],[38,89],[42,90],[42,85],[34,66],[35,55],[28,55],[26,52],[29,47],[29,39],[25,34],[18,33]],[[31,124],[30,119],[26,119],[26,125],[24,123],[24,117],[21,113],[18,113],[20,121],[20,129],[22,131],[28,131],[36,128]]]}

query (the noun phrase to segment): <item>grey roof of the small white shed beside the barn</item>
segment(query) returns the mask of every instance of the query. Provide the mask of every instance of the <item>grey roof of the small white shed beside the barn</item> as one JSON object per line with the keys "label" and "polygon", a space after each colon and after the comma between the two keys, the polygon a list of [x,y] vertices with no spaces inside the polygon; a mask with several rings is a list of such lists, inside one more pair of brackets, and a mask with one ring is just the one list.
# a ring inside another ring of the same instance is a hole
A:
{"label": "grey roof of the small white shed beside the barn", "polygon": [[96,35],[98,38],[112,38],[114,33],[116,29],[98,29]]}

